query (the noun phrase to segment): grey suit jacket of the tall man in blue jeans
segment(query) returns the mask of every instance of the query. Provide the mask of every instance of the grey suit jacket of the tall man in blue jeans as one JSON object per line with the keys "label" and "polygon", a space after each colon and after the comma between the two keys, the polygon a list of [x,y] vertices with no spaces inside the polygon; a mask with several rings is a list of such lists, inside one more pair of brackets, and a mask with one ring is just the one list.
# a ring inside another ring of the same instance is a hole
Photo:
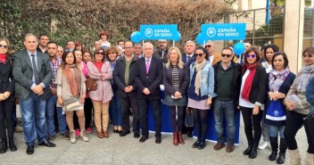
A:
{"label": "grey suit jacket of the tall man in blue jeans", "polygon": [[[49,83],[53,78],[53,72],[50,66],[47,54],[37,52],[37,71],[40,83],[45,85],[44,95],[40,98],[46,100],[50,97]],[[21,100],[28,98],[33,85],[33,66],[26,50],[14,54],[13,77],[15,79],[15,96]]]}

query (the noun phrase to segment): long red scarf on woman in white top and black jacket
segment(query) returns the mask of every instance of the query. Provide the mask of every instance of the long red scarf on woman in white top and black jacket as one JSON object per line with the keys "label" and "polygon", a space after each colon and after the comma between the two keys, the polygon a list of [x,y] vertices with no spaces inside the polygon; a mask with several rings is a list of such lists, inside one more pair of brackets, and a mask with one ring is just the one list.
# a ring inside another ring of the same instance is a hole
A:
{"label": "long red scarf on woman in white top and black jacket", "polygon": [[258,62],[255,62],[253,64],[245,64],[243,68],[244,73],[245,73],[245,70],[250,70],[249,75],[245,79],[244,88],[242,90],[242,95],[241,95],[241,97],[246,101],[249,101],[249,96],[252,89],[252,82],[253,82],[253,78],[254,78],[257,66],[258,66]]}

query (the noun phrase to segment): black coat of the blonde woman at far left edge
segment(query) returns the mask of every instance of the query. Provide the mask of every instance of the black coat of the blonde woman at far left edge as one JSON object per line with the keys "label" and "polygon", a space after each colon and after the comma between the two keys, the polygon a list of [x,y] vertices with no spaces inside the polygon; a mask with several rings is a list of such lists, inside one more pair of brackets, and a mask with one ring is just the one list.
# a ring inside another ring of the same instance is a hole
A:
{"label": "black coat of the blonde woman at far left edge", "polygon": [[12,61],[7,59],[5,63],[0,62],[0,93],[10,92],[7,100],[14,101],[15,80],[12,75]]}

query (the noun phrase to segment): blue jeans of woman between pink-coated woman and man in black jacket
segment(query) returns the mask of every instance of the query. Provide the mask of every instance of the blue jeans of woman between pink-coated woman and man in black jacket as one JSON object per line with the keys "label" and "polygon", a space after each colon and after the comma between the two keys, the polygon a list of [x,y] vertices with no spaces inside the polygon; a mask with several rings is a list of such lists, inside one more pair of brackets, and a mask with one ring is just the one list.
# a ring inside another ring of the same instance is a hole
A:
{"label": "blue jeans of woman between pink-coated woman and man in black jacket", "polygon": [[121,103],[118,99],[117,89],[113,90],[112,101],[109,104],[109,113],[112,117],[113,126],[122,126]]}

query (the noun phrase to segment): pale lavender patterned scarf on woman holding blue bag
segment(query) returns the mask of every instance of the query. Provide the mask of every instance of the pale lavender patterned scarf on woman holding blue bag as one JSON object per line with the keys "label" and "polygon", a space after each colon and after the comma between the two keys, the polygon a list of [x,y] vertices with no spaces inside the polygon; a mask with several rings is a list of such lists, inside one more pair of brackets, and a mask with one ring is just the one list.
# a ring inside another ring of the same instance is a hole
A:
{"label": "pale lavender patterned scarf on woman holding blue bag", "polygon": [[277,71],[275,69],[269,72],[269,89],[272,92],[278,92],[281,85],[284,83],[285,78],[289,75],[289,67],[285,70]]}

